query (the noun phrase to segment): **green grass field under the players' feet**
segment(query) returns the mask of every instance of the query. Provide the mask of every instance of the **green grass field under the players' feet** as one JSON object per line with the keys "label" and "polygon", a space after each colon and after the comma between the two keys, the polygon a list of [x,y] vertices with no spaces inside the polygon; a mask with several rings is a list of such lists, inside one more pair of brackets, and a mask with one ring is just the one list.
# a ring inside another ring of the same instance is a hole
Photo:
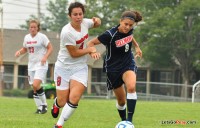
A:
{"label": "green grass field under the players' feet", "polygon": [[[47,101],[48,113],[38,115],[33,99],[0,97],[0,128],[52,128],[57,119]],[[81,99],[64,128],[114,128],[119,121],[115,100]],[[138,100],[133,122],[135,128],[200,128],[200,103]]]}

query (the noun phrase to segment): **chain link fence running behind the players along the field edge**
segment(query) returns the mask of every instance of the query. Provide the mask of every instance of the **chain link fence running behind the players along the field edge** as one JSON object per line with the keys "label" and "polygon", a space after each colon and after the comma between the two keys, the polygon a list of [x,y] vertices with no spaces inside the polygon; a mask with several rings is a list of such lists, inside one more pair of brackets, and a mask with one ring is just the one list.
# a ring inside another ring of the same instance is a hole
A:
{"label": "chain link fence running behind the players along the field edge", "polygon": [[[50,78],[46,82],[51,81]],[[86,89],[83,98],[115,98],[112,91],[107,90],[106,82],[89,82],[90,89]],[[12,90],[13,75],[5,74],[3,80],[3,89]],[[30,89],[27,76],[18,77],[17,89]],[[184,85],[177,83],[161,83],[161,82],[144,82],[137,81],[136,90],[139,100],[150,101],[191,101],[192,85]],[[89,92],[89,93],[88,93]]]}

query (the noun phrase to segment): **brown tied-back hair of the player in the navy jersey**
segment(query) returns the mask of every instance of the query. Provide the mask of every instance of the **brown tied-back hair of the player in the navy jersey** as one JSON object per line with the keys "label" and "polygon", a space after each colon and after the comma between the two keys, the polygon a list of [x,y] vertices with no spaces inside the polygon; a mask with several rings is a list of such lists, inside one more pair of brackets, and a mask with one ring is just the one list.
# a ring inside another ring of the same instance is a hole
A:
{"label": "brown tied-back hair of the player in the navy jersey", "polygon": [[125,11],[121,16],[121,19],[124,18],[129,18],[135,22],[140,22],[142,20],[142,16],[138,11]]}

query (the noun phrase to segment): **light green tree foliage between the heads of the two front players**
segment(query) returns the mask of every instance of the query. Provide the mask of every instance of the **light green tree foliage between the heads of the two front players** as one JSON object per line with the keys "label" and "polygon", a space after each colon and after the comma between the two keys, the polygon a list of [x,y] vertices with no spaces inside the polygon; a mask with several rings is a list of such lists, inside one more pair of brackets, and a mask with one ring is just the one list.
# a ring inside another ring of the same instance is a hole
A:
{"label": "light green tree foliage between the heads of the two front players", "polygon": [[130,0],[86,0],[86,17],[97,16],[101,18],[102,25],[91,33],[100,34],[103,31],[119,24],[122,12],[129,10]]}

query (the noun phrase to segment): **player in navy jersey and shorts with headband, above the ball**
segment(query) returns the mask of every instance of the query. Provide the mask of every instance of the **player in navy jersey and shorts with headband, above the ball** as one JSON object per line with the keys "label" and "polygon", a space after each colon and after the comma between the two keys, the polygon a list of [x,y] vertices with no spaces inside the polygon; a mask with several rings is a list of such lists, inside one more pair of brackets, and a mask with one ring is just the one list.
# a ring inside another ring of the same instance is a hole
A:
{"label": "player in navy jersey and shorts with headband, above the ball", "polygon": [[[130,122],[132,122],[137,100],[137,66],[131,51],[132,45],[135,46],[135,57],[142,57],[142,51],[133,37],[133,27],[141,20],[142,16],[139,12],[125,11],[121,16],[119,25],[88,42],[88,47],[100,43],[106,46],[103,70],[107,73],[107,87],[108,90],[113,90],[115,93],[117,99],[116,107],[121,120],[128,120]],[[100,57],[99,53],[92,53],[90,55],[96,59]],[[125,90],[124,85],[127,90]]]}

